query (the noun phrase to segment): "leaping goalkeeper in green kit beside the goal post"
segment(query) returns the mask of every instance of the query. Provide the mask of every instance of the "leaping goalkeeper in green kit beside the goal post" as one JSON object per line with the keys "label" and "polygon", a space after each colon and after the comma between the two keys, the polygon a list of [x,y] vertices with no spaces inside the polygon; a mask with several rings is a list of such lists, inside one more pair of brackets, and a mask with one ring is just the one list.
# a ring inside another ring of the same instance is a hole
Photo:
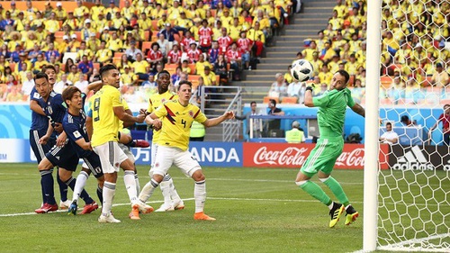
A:
{"label": "leaping goalkeeper in green kit beside the goal post", "polygon": [[[365,109],[353,101],[351,91],[347,89],[348,79],[350,79],[350,76],[347,71],[339,70],[333,76],[327,92],[313,98],[312,87],[308,86],[304,97],[306,106],[319,107],[317,118],[320,139],[303,164],[295,179],[295,184],[299,185],[303,191],[318,199],[321,203],[329,206],[329,215],[331,216],[331,221],[329,221],[330,228],[336,225],[344,211],[347,212],[346,225],[356,221],[359,215],[348,202],[342,186],[330,176],[336,160],[344,148],[342,134],[347,106],[355,113],[365,117]],[[315,174],[318,174],[320,181],[329,187],[340,203],[331,201],[319,185],[310,181]]]}

